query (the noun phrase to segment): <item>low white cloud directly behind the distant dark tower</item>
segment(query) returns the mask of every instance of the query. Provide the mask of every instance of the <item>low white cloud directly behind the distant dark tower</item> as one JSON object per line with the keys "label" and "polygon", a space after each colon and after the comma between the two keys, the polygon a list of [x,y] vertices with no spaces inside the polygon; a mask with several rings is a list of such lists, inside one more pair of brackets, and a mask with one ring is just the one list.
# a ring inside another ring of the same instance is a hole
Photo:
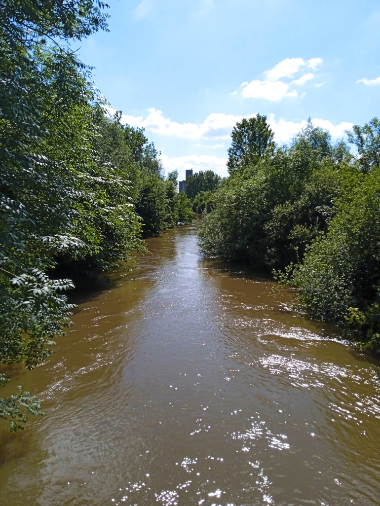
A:
{"label": "low white cloud directly behind the distant dark tower", "polygon": [[220,177],[228,175],[226,167],[227,158],[211,155],[188,155],[170,158],[167,155],[162,155],[161,159],[166,172],[177,169],[179,180],[185,178],[185,170],[187,168],[192,168],[194,172],[214,171]]}

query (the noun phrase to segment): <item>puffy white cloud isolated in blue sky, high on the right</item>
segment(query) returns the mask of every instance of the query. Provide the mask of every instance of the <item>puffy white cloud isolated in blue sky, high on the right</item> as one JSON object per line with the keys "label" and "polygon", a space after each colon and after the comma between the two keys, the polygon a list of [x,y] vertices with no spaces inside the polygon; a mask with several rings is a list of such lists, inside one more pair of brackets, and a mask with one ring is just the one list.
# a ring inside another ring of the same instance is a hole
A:
{"label": "puffy white cloud isolated in blue sky, high on the right", "polygon": [[[264,80],[243,82],[242,96],[272,102],[278,102],[284,97],[297,97],[297,90],[292,87],[294,85],[304,85],[307,81],[313,79],[314,73],[305,73],[305,71],[307,69],[316,70],[322,63],[321,58],[311,58],[307,61],[302,58],[285,58],[272,69],[264,72]],[[301,75],[290,81],[296,74]]]}

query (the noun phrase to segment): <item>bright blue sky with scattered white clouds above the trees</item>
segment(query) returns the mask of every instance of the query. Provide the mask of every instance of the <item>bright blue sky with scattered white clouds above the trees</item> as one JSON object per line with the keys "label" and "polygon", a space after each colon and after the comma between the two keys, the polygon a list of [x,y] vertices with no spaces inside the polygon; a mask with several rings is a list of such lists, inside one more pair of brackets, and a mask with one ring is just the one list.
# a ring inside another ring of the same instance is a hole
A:
{"label": "bright blue sky with scattered white clouds above the trees", "polygon": [[[236,121],[267,115],[279,144],[310,116],[344,136],[378,116],[380,2],[110,0],[79,54],[166,171],[226,176]],[[76,49],[76,48],[75,48]]]}

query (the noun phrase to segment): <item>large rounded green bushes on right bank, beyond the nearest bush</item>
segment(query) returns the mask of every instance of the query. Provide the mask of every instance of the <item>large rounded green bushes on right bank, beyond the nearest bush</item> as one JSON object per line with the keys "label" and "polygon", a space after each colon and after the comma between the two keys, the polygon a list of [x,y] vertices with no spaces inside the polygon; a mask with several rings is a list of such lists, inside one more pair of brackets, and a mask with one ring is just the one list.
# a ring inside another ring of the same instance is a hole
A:
{"label": "large rounded green bushes on right bank, beyond the nearest bush", "polygon": [[302,258],[334,215],[344,162],[333,158],[333,148],[329,134],[309,121],[290,148],[271,146],[242,163],[213,198],[202,250],[258,269]]}

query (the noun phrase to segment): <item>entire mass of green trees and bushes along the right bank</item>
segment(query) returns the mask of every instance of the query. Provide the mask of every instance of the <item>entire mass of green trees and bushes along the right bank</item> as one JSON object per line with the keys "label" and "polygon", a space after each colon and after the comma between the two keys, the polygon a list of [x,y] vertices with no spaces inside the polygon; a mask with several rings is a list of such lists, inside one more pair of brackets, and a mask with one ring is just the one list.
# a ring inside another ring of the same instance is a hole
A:
{"label": "entire mass of green trees and bushes along the right bank", "polygon": [[310,120],[289,147],[274,145],[259,114],[232,137],[230,178],[204,218],[203,251],[274,269],[312,316],[354,329],[362,348],[380,352],[378,119],[348,133],[356,156]]}

